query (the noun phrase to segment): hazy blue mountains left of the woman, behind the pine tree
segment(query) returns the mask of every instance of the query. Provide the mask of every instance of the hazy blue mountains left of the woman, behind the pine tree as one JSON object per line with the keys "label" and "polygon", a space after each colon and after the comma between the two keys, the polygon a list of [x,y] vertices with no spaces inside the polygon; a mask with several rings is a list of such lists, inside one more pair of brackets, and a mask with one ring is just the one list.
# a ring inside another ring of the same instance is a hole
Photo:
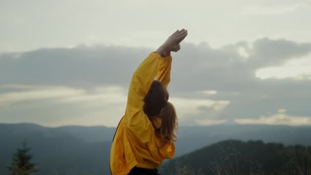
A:
{"label": "hazy blue mountains left of the woman, behind the pine tree", "polygon": [[36,174],[109,174],[111,139],[90,142],[84,138],[87,132],[78,136],[79,132],[71,133],[74,129],[77,127],[57,129],[28,123],[1,124],[0,174],[8,174],[5,166],[24,139],[32,148],[33,162],[38,163],[40,172]]}

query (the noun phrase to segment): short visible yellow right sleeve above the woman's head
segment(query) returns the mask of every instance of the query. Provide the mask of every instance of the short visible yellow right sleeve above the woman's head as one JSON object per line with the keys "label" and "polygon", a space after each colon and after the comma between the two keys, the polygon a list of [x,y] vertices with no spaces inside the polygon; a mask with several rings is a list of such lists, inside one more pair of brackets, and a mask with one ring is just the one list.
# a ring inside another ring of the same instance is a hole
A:
{"label": "short visible yellow right sleeve above the woman's head", "polygon": [[157,80],[162,82],[162,84],[167,88],[170,82],[171,74],[171,65],[172,65],[172,56],[161,57],[158,67]]}

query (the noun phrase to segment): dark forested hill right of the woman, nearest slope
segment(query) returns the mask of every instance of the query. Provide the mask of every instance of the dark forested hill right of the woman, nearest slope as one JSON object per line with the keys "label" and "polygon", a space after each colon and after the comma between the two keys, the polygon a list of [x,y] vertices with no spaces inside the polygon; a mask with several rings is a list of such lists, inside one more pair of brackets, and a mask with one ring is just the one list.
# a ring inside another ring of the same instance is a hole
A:
{"label": "dark forested hill right of the woman, nearest slope", "polygon": [[311,145],[226,140],[163,163],[171,174],[311,174]]}

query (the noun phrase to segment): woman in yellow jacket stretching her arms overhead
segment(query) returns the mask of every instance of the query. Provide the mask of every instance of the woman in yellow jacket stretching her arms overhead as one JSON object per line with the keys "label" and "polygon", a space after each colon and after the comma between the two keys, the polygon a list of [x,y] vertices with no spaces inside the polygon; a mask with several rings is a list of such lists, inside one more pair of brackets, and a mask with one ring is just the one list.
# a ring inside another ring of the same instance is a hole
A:
{"label": "woman in yellow jacket stretching her arms overhead", "polygon": [[[113,175],[158,174],[157,167],[175,153],[177,116],[168,102],[172,57],[187,30],[177,30],[139,65],[132,76],[127,105],[110,150]],[[157,80],[154,78],[157,77]]]}

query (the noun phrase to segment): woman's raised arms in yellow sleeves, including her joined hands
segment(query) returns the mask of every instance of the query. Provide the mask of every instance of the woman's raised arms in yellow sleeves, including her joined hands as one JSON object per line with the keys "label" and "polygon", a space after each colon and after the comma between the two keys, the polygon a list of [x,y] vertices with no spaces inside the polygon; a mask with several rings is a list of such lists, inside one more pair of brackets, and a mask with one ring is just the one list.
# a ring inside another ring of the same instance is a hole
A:
{"label": "woman's raised arms in yellow sleeves, including her joined hands", "polygon": [[169,36],[159,49],[150,53],[132,75],[128,90],[125,124],[136,135],[143,134],[144,130],[150,127],[149,119],[143,112],[143,100],[149,91],[152,81],[158,76],[159,81],[163,81],[166,84],[169,82],[171,56],[169,54],[169,56],[165,57],[165,54],[171,51],[177,52],[180,49],[179,43],[186,36],[186,30],[177,30]]}

